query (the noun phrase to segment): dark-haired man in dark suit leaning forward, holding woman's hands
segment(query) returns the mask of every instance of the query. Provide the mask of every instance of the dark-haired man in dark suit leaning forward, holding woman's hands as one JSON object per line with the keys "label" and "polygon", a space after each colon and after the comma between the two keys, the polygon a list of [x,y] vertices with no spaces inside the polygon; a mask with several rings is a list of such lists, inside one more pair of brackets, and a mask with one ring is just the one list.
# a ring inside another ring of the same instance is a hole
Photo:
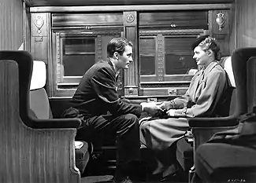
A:
{"label": "dark-haired man in dark suit leaning forward, holding woman's hands", "polygon": [[132,182],[128,172],[132,161],[139,160],[139,116],[154,115],[154,103],[131,104],[121,100],[116,90],[117,73],[132,63],[132,42],[113,38],[107,45],[108,59],[94,64],[84,75],[72,97],[72,108],[64,117],[80,118],[83,122],[76,138],[94,141],[102,134],[114,134],[117,140],[115,182]]}

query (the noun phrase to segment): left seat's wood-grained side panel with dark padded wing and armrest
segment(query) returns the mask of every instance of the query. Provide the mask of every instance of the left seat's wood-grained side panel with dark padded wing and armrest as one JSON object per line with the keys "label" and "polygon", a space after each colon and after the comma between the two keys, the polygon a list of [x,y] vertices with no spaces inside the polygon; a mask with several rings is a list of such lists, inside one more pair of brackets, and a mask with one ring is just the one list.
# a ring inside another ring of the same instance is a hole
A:
{"label": "left seat's wood-grained side panel with dark padded wing and armrest", "polygon": [[32,118],[32,64],[28,52],[0,52],[0,182],[80,182],[74,148],[80,120]]}

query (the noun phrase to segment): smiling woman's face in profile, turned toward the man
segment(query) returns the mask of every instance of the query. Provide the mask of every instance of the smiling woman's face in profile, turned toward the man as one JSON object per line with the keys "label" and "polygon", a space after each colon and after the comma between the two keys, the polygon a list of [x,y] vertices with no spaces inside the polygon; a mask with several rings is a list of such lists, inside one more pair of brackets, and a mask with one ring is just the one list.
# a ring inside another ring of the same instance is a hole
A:
{"label": "smiling woman's face in profile, turned toward the man", "polygon": [[196,46],[193,59],[198,65],[208,65],[210,63],[210,50],[203,50],[201,46]]}

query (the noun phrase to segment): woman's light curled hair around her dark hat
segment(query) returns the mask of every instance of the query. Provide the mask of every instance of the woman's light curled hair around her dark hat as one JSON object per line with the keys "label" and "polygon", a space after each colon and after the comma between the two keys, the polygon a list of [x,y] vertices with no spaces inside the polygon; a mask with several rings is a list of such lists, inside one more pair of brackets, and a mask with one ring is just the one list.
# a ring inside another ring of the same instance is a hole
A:
{"label": "woman's light curled hair around her dark hat", "polygon": [[218,46],[215,38],[207,37],[202,42],[198,44],[202,48],[202,50],[209,50],[211,49],[214,53],[215,60],[221,60],[221,50],[220,46]]}

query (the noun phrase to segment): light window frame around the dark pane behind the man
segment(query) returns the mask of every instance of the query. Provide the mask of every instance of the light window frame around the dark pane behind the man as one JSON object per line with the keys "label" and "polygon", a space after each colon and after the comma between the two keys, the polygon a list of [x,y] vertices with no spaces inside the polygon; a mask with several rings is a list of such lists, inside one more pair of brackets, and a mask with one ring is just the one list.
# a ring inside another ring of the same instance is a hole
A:
{"label": "light window frame around the dark pane behind the man", "polygon": [[[67,37],[67,35],[81,37],[86,36],[88,38],[95,38],[95,63],[102,59],[102,37],[104,36],[120,36],[122,31],[53,31],[52,32],[52,48],[53,48],[53,57],[50,64],[50,74],[49,74],[49,86],[47,87],[48,93],[51,97],[72,97],[76,92],[76,88],[80,83],[82,76],[64,76],[61,73],[60,66],[61,64],[61,52],[63,49],[63,44],[61,38]],[[60,78],[63,78],[62,82]]]}

